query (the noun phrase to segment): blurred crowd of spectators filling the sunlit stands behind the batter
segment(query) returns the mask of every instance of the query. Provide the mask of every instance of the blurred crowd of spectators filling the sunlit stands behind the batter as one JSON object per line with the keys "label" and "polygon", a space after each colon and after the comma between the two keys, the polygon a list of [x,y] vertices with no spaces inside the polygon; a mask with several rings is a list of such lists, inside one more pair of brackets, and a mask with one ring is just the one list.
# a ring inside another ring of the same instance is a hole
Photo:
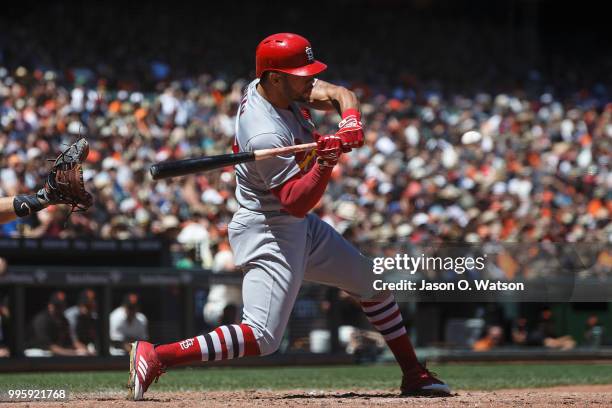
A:
{"label": "blurred crowd of spectators filling the sunlit stands behind the batter", "polygon": [[[45,160],[85,136],[96,198],[67,228],[65,209],[50,208],[2,234],[223,241],[237,208],[231,168],[155,183],[147,173],[156,161],[228,152],[245,84],[202,75],[145,94],[0,68],[0,194],[39,187]],[[590,93],[562,103],[354,89],[366,144],[342,157],[315,211],[358,245],[612,240],[612,104]],[[337,114],[313,113],[334,131]]]}

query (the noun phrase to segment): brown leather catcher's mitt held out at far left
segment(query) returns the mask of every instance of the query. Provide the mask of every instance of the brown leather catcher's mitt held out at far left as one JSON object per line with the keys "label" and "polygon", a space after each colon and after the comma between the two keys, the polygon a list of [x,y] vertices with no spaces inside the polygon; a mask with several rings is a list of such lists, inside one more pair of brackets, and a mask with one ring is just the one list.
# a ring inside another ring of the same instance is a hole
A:
{"label": "brown leather catcher's mitt held out at far left", "polygon": [[85,211],[93,204],[91,194],[83,183],[83,161],[89,154],[85,138],[77,140],[64,150],[53,163],[45,185],[37,193],[49,204],[69,204],[72,211]]}

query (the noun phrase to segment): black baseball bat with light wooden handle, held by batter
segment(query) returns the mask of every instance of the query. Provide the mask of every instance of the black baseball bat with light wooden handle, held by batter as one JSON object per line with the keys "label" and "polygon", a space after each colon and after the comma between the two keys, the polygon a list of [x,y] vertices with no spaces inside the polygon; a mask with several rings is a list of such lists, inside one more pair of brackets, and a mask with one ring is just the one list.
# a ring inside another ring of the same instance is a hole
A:
{"label": "black baseball bat with light wooden handle, held by batter", "polygon": [[295,146],[274,147],[272,149],[260,149],[252,152],[240,152],[220,154],[217,156],[194,157],[183,160],[167,160],[155,163],[149,169],[153,180],[161,180],[170,177],[180,177],[189,174],[200,173],[218,169],[225,166],[235,166],[256,160],[265,160],[283,154],[303,152],[317,147],[316,143],[304,143]]}

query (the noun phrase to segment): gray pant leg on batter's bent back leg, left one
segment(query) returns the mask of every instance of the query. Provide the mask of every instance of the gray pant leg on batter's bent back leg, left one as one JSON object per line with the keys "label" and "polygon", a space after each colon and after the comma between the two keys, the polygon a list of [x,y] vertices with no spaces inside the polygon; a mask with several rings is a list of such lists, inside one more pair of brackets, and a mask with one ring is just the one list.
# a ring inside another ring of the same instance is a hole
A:
{"label": "gray pant leg on batter's bent back leg, left one", "polygon": [[245,269],[242,324],[253,329],[261,355],[271,354],[280,346],[304,279],[308,223],[244,210],[234,220],[230,243],[236,265]]}

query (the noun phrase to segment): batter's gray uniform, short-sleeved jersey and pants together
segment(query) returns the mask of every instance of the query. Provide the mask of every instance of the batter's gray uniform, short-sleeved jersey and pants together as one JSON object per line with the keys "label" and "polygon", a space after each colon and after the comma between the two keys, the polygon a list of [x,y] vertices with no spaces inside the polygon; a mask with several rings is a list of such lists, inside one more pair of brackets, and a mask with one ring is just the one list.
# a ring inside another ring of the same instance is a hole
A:
{"label": "batter's gray uniform, short-sleeved jersey and pants together", "polygon": [[[308,143],[314,126],[300,107],[278,109],[249,84],[236,119],[238,151]],[[236,166],[241,208],[227,226],[242,283],[242,322],[253,329],[262,354],[275,351],[302,281],[341,288],[360,299],[374,294],[372,262],[315,214],[294,217],[279,210],[270,193],[314,164],[314,151]]]}

